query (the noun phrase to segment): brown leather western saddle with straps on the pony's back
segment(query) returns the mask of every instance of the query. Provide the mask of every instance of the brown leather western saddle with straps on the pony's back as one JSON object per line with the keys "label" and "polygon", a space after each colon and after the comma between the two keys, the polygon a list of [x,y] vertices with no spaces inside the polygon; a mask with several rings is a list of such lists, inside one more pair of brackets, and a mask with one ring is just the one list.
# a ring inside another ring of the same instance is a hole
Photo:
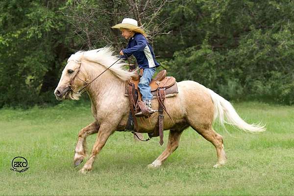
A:
{"label": "brown leather western saddle with straps on the pony's back", "polygon": [[[133,70],[130,70],[133,71]],[[153,132],[148,133],[149,138],[151,137],[160,137],[159,144],[163,145],[163,112],[166,111],[168,116],[171,118],[169,113],[166,110],[164,105],[164,100],[167,97],[176,96],[178,93],[177,85],[175,78],[172,76],[166,76],[167,71],[160,71],[154,79],[151,79],[149,86],[151,87],[151,94],[153,95],[153,99],[157,98],[158,101],[158,123],[155,125]],[[140,77],[143,75],[143,69],[140,69],[140,73],[138,75],[132,76],[130,80],[126,82],[125,88],[125,96],[129,98],[130,103],[130,115],[128,124],[132,124],[134,126],[129,126],[125,129],[132,129],[135,132],[139,132],[139,126],[137,123],[137,119],[135,117],[135,113],[142,111],[145,118],[149,118],[150,114],[147,108],[144,106],[142,101],[142,96],[140,90],[138,88],[138,84],[140,82]],[[172,118],[171,118],[172,119]],[[141,120],[141,119],[140,119]]]}

